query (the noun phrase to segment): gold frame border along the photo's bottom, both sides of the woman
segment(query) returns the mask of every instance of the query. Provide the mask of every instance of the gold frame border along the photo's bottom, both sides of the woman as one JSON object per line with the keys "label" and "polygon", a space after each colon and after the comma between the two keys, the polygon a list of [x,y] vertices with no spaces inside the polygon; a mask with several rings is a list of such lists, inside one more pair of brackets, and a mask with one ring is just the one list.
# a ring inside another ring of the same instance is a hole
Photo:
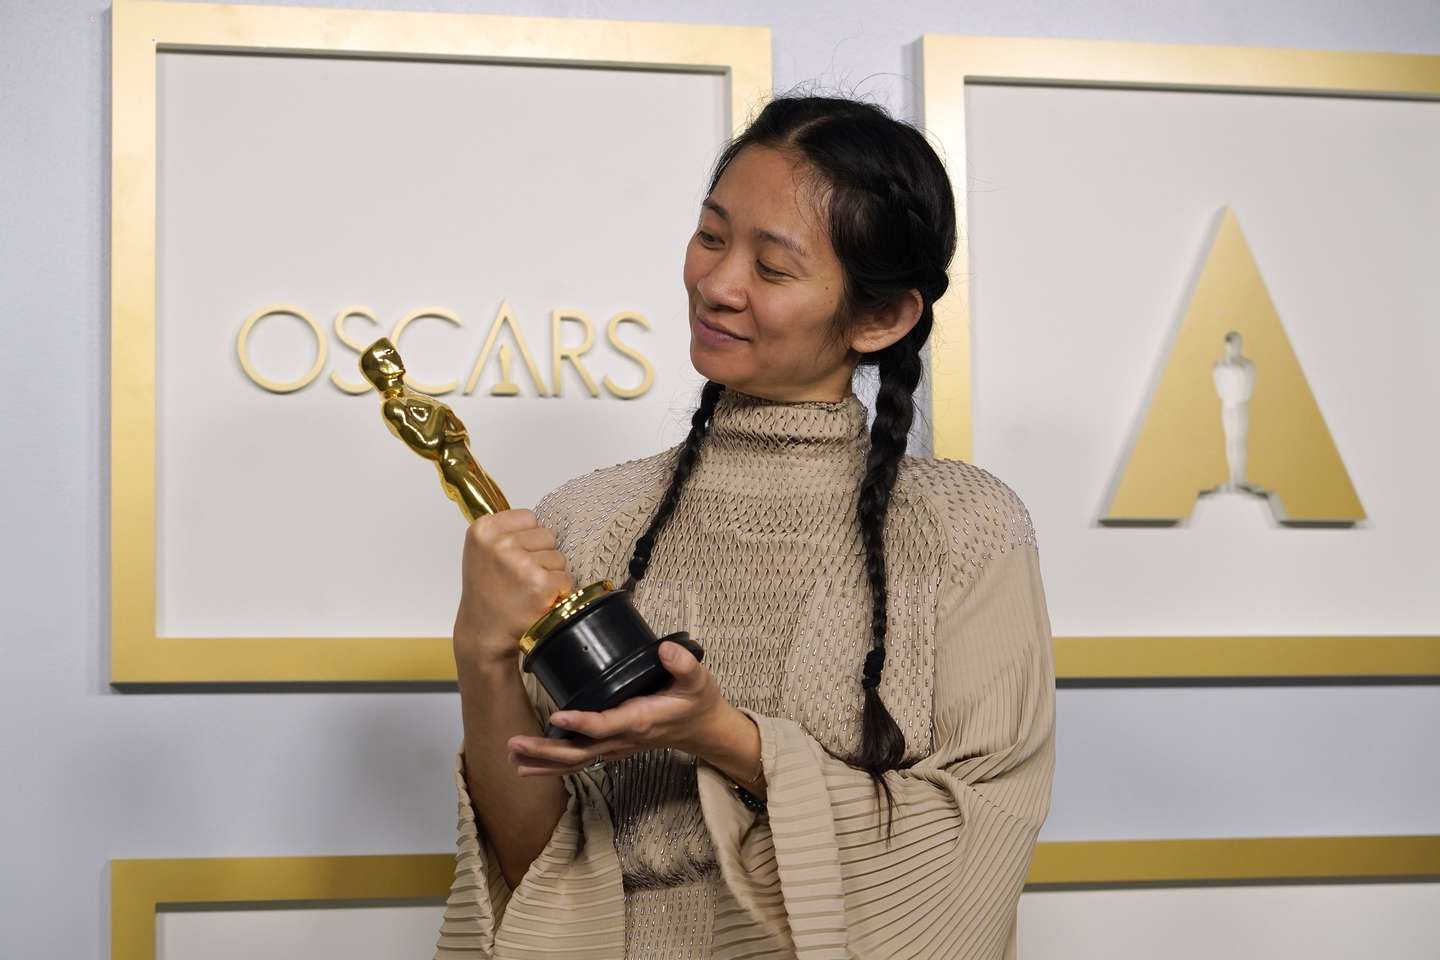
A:
{"label": "gold frame border along the photo's bottom, both sides of the woman", "polygon": [[[118,859],[109,871],[109,956],[154,960],[163,905],[444,900],[455,856]],[[1063,889],[1365,879],[1440,881],[1440,835],[1040,843],[1025,882]]]}

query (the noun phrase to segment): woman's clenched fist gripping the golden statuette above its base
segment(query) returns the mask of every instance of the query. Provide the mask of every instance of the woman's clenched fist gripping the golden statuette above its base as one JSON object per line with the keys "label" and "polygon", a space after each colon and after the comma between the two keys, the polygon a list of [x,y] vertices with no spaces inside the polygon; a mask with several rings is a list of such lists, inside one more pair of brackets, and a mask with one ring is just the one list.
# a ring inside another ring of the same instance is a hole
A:
{"label": "woman's clenched fist gripping the golden statuette above its base", "polygon": [[455,662],[459,669],[514,669],[517,642],[575,592],[554,534],[528,510],[480,517],[465,531]]}

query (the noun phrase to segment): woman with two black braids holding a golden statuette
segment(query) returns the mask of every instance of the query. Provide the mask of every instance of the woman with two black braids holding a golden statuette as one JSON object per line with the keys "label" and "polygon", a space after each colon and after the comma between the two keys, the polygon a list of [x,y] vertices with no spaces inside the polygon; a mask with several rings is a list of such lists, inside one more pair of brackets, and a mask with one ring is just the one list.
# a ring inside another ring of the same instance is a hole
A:
{"label": "woman with two black braids holding a golden statuette", "polygon": [[[880,108],[780,98],[721,154],[690,436],[469,528],[438,957],[1014,956],[1054,769],[1034,530],[984,469],[904,455],[953,250],[943,166]],[[665,643],[665,691],[552,714],[516,638],[626,573],[704,664]]]}

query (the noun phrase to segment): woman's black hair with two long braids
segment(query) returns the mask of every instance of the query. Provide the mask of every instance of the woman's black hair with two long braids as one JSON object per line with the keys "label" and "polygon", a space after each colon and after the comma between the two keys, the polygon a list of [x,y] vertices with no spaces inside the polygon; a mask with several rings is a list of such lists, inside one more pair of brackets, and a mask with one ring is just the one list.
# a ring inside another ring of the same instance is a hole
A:
{"label": "woman's black hair with two long braids", "polygon": [[[874,603],[871,649],[860,679],[865,698],[860,750],[847,760],[868,771],[877,790],[884,790],[893,816],[893,797],[883,774],[906,766],[906,741],[878,692],[886,665],[888,609],[884,528],[914,420],[914,390],[924,370],[920,348],[930,335],[935,301],[949,285],[956,242],[955,197],[945,166],[924,135],[873,104],[827,96],[770,101],[721,151],[710,177],[710,193],[726,167],[749,147],[793,155],[828,201],[831,245],[845,278],[832,324],[837,338],[847,338],[867,312],[894,305],[912,291],[920,294],[920,318],[910,332],[858,360],[860,366],[877,367],[880,374],[865,475],[855,504]],[[698,462],[723,390],[723,384],[707,381],[700,394],[700,407],[675,458],[670,486],[635,543],[626,589],[645,576],[655,538],[674,514],[681,488]]]}

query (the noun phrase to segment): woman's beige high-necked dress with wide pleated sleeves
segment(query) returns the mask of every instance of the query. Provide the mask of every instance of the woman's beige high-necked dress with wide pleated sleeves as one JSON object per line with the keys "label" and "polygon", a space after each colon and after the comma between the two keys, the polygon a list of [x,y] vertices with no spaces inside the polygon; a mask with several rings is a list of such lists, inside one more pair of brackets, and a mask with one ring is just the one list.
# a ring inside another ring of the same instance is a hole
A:
{"label": "woman's beige high-necked dress with wide pleated sleeves", "polygon": [[[962,461],[906,458],[886,530],[880,694],[913,766],[887,839],[860,741],[871,599],[855,498],[865,406],[727,390],[635,603],[690,630],[759,724],[768,810],[675,750],[564,777],[569,806],[511,889],[456,756],[459,841],[441,960],[1014,957],[1050,809],[1054,661],[1015,492]],[[625,579],[675,449],[563,484],[534,508],[577,583]],[[541,718],[552,708],[526,676]]]}

